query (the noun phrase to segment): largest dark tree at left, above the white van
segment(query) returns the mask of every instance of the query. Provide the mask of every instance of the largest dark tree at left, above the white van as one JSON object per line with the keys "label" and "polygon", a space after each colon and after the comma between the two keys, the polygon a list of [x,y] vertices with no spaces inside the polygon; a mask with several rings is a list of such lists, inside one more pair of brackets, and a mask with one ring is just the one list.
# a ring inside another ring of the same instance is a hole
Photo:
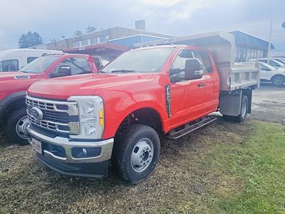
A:
{"label": "largest dark tree at left, above the white van", "polygon": [[20,49],[26,49],[39,44],[43,44],[43,39],[41,39],[41,36],[38,33],[32,33],[31,31],[28,31],[27,34],[22,34],[18,41],[18,46]]}

